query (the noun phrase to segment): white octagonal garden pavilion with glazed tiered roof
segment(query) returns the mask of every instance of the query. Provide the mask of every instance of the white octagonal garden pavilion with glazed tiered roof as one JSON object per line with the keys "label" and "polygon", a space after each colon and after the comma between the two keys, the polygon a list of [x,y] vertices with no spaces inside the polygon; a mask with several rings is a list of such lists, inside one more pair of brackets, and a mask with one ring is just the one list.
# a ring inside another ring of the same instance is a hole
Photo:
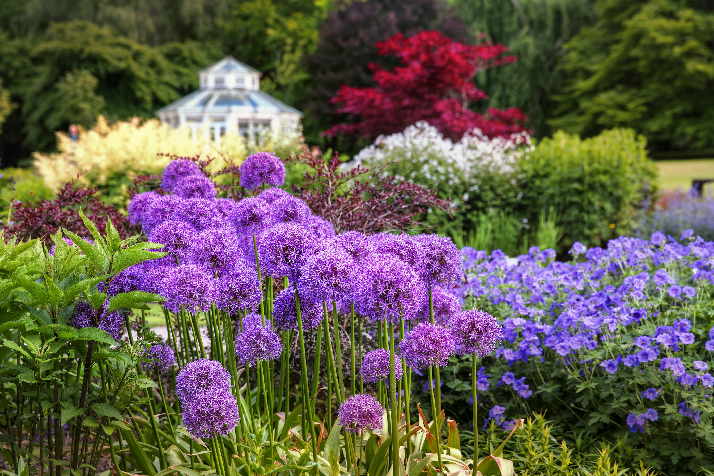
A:
{"label": "white octagonal garden pavilion with glazed tiered roof", "polygon": [[199,89],[156,111],[161,122],[188,126],[218,144],[226,133],[251,141],[267,132],[297,133],[303,113],[261,91],[261,72],[226,56],[198,71]]}

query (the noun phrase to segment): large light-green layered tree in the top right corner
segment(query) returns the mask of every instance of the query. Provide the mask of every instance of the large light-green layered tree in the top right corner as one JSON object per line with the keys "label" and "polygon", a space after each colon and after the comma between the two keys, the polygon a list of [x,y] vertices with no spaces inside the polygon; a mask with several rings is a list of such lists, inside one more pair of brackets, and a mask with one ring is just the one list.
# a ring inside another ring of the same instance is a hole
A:
{"label": "large light-green layered tree in the top right corner", "polygon": [[568,87],[550,123],[591,136],[630,127],[654,148],[714,146],[714,4],[600,0],[565,45]]}

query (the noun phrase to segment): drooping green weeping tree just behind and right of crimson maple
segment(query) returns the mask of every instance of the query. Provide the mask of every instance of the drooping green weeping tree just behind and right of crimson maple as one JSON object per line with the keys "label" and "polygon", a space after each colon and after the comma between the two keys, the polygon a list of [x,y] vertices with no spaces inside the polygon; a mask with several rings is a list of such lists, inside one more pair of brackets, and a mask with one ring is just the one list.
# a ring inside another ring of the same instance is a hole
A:
{"label": "drooping green weeping tree just behind and right of crimson maple", "polygon": [[473,34],[486,34],[511,48],[518,61],[477,76],[488,94],[482,106],[516,106],[526,114],[534,135],[550,135],[551,96],[564,86],[558,61],[563,43],[595,22],[595,0],[456,0],[458,12]]}

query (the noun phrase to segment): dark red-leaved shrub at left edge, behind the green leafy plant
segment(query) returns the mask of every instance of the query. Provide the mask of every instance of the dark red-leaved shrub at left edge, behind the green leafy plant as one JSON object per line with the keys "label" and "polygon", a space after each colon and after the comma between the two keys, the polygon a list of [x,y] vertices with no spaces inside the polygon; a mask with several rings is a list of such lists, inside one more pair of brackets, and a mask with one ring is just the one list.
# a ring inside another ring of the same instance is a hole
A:
{"label": "dark red-leaved shrub at left edge, behind the green leafy plant", "polygon": [[131,225],[129,219],[114,206],[101,201],[98,188],[90,188],[86,183],[64,183],[54,200],[17,204],[18,208],[13,211],[10,226],[4,228],[6,238],[16,233],[19,238],[41,238],[47,245],[51,245],[50,234],[57,233],[60,226],[89,238],[89,231],[79,216],[79,210],[94,222],[99,233],[104,233],[107,218],[114,223],[121,238],[129,238],[140,232],[139,228]]}

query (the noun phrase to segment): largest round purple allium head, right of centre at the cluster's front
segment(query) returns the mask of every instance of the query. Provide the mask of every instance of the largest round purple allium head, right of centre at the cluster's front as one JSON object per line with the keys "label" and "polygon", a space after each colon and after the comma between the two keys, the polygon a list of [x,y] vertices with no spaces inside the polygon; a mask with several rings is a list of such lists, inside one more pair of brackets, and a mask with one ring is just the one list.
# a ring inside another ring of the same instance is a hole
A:
{"label": "largest round purple allium head, right of centre at the cluster's front", "polygon": [[373,255],[362,263],[355,286],[358,313],[373,320],[410,320],[426,302],[424,281],[410,265],[392,255]]}

